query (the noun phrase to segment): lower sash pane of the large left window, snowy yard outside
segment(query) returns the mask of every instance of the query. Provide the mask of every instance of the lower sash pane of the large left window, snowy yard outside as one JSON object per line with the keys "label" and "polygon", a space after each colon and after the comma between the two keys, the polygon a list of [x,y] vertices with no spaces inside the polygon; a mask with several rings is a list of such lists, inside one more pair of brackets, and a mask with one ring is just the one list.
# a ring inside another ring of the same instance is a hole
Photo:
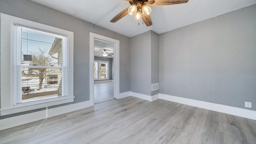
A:
{"label": "lower sash pane of the large left window, snowy yard outside", "polygon": [[61,68],[22,68],[22,102],[62,96]]}

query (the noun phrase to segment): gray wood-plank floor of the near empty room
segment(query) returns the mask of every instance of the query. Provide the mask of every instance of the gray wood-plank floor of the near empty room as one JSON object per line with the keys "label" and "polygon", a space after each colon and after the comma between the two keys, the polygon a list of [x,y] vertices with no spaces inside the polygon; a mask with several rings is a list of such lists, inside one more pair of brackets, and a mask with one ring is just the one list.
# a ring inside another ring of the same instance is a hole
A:
{"label": "gray wood-plank floor of the near empty room", "polygon": [[1,144],[255,144],[256,120],[134,97],[0,131]]}

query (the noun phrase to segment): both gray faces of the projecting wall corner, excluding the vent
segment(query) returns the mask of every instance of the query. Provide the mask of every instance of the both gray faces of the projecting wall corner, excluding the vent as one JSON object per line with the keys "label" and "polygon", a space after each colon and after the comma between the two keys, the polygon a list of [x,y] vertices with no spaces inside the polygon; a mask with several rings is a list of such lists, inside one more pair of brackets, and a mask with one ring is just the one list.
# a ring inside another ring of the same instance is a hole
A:
{"label": "both gray faces of the projecting wall corner, excluding the vent", "polygon": [[153,96],[151,84],[159,82],[159,35],[152,30],[130,39],[131,92]]}

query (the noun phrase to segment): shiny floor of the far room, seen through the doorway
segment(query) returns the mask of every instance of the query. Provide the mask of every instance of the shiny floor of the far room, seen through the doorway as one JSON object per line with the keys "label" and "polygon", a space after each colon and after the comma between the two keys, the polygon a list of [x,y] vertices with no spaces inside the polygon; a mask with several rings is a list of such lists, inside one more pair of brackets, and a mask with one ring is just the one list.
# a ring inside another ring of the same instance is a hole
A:
{"label": "shiny floor of the far room, seen through the doorway", "polygon": [[102,82],[94,84],[95,104],[112,99],[114,99],[114,82]]}

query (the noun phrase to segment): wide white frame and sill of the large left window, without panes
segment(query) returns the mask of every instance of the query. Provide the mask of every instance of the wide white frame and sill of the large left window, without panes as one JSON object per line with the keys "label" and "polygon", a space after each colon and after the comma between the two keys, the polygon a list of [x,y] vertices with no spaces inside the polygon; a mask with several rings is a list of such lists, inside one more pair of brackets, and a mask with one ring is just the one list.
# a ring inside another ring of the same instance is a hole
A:
{"label": "wide white frame and sill of the large left window, without panes", "polygon": [[[65,52],[65,57],[67,60],[66,96],[32,102],[22,102],[20,104],[17,104],[17,101],[14,97],[14,93],[16,90],[14,86],[14,81],[16,78],[16,76],[14,76],[14,57],[16,51],[14,49],[15,24],[28,28],[42,30],[44,32],[62,35],[67,38],[68,47],[66,48]],[[74,33],[67,30],[62,30],[60,28],[47,26],[44,24],[32,22],[30,20],[17,18],[2,13],[0,14],[0,25],[0,116],[74,102]]]}

